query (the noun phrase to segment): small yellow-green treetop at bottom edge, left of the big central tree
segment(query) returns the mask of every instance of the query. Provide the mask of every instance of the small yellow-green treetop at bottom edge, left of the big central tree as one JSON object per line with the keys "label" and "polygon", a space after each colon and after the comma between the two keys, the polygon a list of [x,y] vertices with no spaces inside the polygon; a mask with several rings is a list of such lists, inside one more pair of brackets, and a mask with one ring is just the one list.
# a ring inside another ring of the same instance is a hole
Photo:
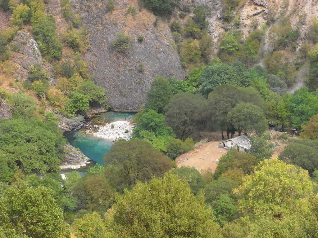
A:
{"label": "small yellow-green treetop at bottom edge, left of the big central tree", "polygon": [[106,238],[106,227],[97,212],[86,214],[72,224],[74,234],[78,238]]}

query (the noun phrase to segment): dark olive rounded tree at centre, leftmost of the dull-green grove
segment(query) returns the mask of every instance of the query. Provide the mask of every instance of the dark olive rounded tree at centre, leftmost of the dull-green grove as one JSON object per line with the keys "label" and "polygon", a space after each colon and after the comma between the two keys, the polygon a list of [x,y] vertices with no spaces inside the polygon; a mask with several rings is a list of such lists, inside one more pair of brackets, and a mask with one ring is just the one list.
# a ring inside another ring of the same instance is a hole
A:
{"label": "dark olive rounded tree at centre, leftmost of the dull-green grove", "polygon": [[198,94],[177,93],[165,107],[165,121],[179,138],[185,139],[204,121],[204,104]]}

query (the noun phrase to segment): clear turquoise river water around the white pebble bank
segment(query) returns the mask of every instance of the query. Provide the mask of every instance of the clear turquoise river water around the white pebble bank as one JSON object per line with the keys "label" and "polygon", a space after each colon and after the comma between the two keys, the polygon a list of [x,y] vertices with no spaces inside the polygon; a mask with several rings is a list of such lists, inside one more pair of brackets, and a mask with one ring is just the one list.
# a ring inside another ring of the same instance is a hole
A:
{"label": "clear turquoise river water around the white pebble bank", "polygon": [[[127,112],[104,112],[100,113],[95,117],[95,122],[115,122],[123,121],[126,117],[126,120],[129,120],[129,116],[134,117],[134,113]],[[70,132],[64,133],[64,136],[71,145],[76,148],[79,148],[84,155],[93,160],[95,163],[104,165],[103,157],[105,154],[109,153],[110,147],[114,142],[111,140],[102,139],[100,137],[89,136],[83,133],[85,127],[82,129],[73,130]],[[81,171],[81,169],[79,169]],[[84,171],[82,171],[85,173]],[[65,173],[62,171],[62,173]]]}

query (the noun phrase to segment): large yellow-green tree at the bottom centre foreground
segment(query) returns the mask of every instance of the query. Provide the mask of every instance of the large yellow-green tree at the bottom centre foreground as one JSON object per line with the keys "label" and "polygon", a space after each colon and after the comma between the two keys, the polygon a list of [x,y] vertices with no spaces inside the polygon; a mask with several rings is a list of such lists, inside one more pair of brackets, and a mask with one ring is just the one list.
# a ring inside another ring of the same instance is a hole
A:
{"label": "large yellow-green tree at the bottom centre foreground", "polygon": [[220,237],[203,195],[171,172],[125,190],[113,208],[108,226],[114,237]]}

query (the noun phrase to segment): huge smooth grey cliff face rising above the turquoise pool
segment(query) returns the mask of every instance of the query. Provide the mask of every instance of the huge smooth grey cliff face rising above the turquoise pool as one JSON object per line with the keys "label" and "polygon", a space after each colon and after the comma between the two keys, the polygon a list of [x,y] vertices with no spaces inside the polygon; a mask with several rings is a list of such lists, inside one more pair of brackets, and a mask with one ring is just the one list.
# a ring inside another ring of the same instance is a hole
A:
{"label": "huge smooth grey cliff face rising above the turquoise pool", "polygon": [[[136,111],[146,101],[146,94],[157,76],[184,79],[171,31],[167,23],[158,21],[137,0],[115,0],[115,9],[107,11],[108,0],[73,0],[73,10],[83,17],[91,49],[86,53],[95,82],[104,87],[112,110]],[[135,7],[135,16],[128,13]],[[119,32],[134,39],[127,54],[111,49],[110,42]],[[143,36],[142,42],[137,40]],[[138,67],[143,65],[144,71]]]}

